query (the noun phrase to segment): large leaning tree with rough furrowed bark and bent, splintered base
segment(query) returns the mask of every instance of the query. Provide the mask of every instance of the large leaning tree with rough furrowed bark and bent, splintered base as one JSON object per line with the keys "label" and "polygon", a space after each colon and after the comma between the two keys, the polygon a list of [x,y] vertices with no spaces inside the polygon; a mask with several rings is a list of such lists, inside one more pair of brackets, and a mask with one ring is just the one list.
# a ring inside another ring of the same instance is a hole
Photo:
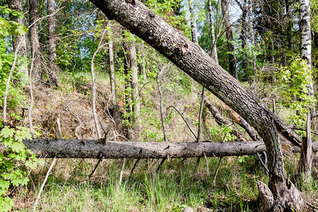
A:
{"label": "large leaning tree with rough furrowed bark and bent, splintered base", "polygon": [[281,208],[302,210],[304,204],[299,192],[297,189],[290,189],[292,184],[285,176],[277,131],[291,142],[299,145],[300,141],[281,119],[216,64],[199,45],[190,42],[181,31],[172,28],[140,1],[90,1],[107,13],[108,18],[117,20],[131,33],[148,42],[247,120],[259,132],[266,145],[269,159],[269,188],[275,199],[274,210],[278,211]]}

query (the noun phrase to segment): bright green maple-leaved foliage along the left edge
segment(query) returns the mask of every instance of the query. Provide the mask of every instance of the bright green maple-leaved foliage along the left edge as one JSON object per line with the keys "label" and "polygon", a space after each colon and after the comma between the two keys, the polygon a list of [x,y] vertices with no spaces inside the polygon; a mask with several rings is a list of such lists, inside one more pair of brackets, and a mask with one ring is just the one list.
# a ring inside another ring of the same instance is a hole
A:
{"label": "bright green maple-leaved foliage along the left edge", "polygon": [[[10,45],[6,40],[11,35],[23,35],[27,30],[23,25],[8,20],[8,14],[22,17],[21,13],[12,11],[9,8],[0,6],[0,90],[5,93],[6,81],[11,71],[14,55],[8,51]],[[12,81],[19,81],[20,73],[18,68],[13,73]],[[12,82],[11,81],[11,82]],[[16,108],[20,105],[21,98],[24,98],[22,86],[9,85],[9,98],[7,106]],[[1,105],[4,104],[4,95],[0,98]],[[16,112],[11,114],[14,118],[20,119]],[[28,183],[28,168],[34,169],[38,160],[30,150],[23,144],[23,139],[31,139],[30,130],[23,126],[3,126],[0,119],[0,142],[4,151],[0,153],[0,211],[11,211],[13,200],[9,197],[8,191],[11,187],[25,185]]]}

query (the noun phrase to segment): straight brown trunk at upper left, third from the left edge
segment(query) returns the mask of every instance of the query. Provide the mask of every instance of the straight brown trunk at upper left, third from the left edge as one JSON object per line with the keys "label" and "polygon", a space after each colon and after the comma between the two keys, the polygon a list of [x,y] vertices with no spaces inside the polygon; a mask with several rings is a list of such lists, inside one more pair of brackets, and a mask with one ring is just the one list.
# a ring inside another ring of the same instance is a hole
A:
{"label": "straight brown trunk at upper left, third from the left edge", "polygon": [[55,0],[47,0],[47,16],[48,16],[48,40],[47,50],[49,52],[49,83],[57,87],[57,64],[55,59],[57,58],[57,47],[56,47],[56,34],[55,34]]}

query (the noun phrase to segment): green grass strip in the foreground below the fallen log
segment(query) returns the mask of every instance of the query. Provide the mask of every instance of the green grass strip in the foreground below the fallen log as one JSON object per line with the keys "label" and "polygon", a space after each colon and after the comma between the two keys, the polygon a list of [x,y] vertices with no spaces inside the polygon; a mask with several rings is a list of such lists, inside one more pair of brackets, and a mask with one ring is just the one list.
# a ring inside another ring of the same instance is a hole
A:
{"label": "green grass strip in the foreground below the fallen log", "polygon": [[[208,158],[208,161],[202,158],[190,188],[195,158],[183,164],[179,159],[166,161],[158,173],[155,169],[159,162],[142,160],[129,182],[134,163],[128,160],[121,185],[118,179],[122,160],[105,160],[88,180],[96,160],[59,159],[42,192],[37,211],[182,211],[188,206],[252,210],[252,202],[257,199],[257,180],[264,180],[264,172],[258,167],[247,170],[243,163],[234,167],[236,157],[223,160],[213,184],[218,158]],[[33,173],[33,179],[45,172],[46,169],[38,170]],[[36,191],[32,186],[18,189],[16,199],[28,199],[20,211],[31,211],[41,183],[42,179],[35,182]]]}

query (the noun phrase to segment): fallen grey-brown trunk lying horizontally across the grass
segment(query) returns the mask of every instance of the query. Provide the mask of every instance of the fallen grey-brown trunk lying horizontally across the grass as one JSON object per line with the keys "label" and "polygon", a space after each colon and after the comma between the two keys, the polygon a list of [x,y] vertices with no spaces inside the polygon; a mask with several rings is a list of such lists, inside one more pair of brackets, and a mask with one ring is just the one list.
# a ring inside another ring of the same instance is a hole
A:
{"label": "fallen grey-brown trunk lying horizontally across the grass", "polygon": [[[263,141],[249,142],[106,142],[77,139],[33,139],[23,143],[42,158],[198,158],[253,155],[266,151]],[[318,149],[318,141],[314,142]],[[1,152],[4,146],[1,146]],[[294,148],[299,152],[300,148]]]}

